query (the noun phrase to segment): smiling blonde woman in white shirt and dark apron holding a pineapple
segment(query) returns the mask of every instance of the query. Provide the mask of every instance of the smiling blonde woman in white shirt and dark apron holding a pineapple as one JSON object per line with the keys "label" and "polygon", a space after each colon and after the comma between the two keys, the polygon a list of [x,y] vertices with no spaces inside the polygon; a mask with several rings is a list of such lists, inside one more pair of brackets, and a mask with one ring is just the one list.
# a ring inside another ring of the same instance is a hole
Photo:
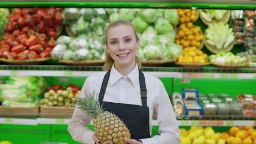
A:
{"label": "smiling blonde woman in white shirt and dark apron holding a pineapple", "polygon": [[[103,108],[120,117],[129,128],[131,139],[125,139],[128,144],[179,144],[179,127],[163,83],[139,69],[136,53],[140,41],[133,25],[126,20],[114,21],[106,30],[105,46],[104,71],[107,72],[88,77],[81,97],[85,97],[85,90],[99,93]],[[151,138],[154,109],[160,136]],[[90,122],[91,117],[76,107],[68,131],[76,141],[100,144],[94,132],[87,128]]]}

